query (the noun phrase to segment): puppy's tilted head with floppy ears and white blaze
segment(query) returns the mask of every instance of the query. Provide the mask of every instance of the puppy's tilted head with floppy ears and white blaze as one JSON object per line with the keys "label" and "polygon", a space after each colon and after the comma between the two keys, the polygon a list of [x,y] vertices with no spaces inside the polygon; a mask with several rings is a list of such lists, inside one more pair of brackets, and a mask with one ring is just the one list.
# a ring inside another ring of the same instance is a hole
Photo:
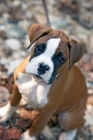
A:
{"label": "puppy's tilted head with floppy ears and white blaze", "polygon": [[29,38],[31,57],[26,72],[42,79],[46,84],[54,81],[65,64],[68,64],[70,70],[84,52],[84,47],[77,41],[69,39],[62,31],[44,25],[34,24]]}

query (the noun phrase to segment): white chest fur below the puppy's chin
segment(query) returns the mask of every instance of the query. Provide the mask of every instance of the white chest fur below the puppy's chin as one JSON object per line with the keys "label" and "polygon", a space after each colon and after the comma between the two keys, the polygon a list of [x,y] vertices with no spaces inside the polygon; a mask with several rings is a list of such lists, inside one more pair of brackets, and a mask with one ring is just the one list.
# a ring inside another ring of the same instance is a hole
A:
{"label": "white chest fur below the puppy's chin", "polygon": [[22,97],[33,108],[42,108],[48,103],[47,95],[51,85],[37,81],[27,73],[19,73],[16,84]]}

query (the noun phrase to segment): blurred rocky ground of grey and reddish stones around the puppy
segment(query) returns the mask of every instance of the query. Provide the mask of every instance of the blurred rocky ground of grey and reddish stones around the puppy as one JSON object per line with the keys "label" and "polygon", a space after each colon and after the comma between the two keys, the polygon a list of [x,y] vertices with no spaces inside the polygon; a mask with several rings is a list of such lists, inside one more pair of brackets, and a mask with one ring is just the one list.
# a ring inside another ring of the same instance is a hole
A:
{"label": "blurred rocky ground of grey and reddish stones around the puppy", "polygon": [[[88,91],[86,125],[75,139],[93,140],[93,1],[47,0],[47,6],[51,27],[64,31],[86,48],[83,58],[77,63],[85,77]],[[29,45],[28,31],[33,23],[46,24],[42,1],[0,1],[0,106],[11,98],[13,73],[30,53],[26,48]],[[17,140],[36,115],[38,112],[20,103],[12,118],[0,125],[0,140]],[[57,116],[53,116],[48,125],[58,138],[62,129]],[[47,140],[42,135],[38,139]]]}

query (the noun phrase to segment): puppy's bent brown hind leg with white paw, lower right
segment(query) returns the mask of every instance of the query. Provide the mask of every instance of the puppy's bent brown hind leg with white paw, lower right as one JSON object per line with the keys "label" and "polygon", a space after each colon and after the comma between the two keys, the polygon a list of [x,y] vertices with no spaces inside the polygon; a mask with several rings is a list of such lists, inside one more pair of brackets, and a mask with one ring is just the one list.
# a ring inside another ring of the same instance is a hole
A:
{"label": "puppy's bent brown hind leg with white paw, lower right", "polygon": [[[79,121],[77,121],[77,117]],[[62,128],[67,130],[60,134],[59,140],[74,140],[77,134],[77,128],[81,128],[84,125],[85,120],[83,117],[83,109],[59,114],[59,124]]]}

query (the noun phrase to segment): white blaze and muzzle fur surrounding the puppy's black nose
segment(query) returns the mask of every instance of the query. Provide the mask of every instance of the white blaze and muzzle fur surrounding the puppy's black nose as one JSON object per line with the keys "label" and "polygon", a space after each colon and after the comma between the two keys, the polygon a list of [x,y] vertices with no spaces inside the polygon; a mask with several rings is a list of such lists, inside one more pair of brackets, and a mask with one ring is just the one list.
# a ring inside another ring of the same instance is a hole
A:
{"label": "white blaze and muzzle fur surrounding the puppy's black nose", "polygon": [[44,51],[44,53],[31,59],[31,61],[26,66],[26,72],[38,75],[38,66],[40,63],[44,63],[45,65],[48,65],[50,69],[46,71],[45,74],[40,76],[46,83],[48,83],[54,71],[54,64],[51,58],[56,53],[60,41],[60,38],[49,39],[46,42],[46,50]]}

